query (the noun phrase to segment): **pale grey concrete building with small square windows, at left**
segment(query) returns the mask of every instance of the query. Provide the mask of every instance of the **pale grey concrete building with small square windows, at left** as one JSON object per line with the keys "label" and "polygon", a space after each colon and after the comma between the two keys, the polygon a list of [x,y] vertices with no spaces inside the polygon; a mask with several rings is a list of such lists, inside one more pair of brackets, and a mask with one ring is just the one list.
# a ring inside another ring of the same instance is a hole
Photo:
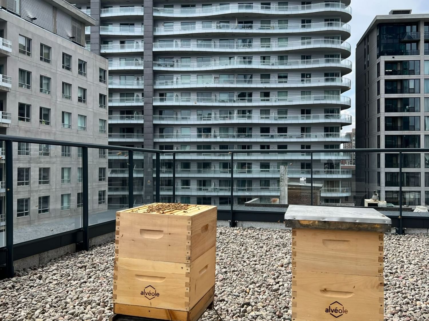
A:
{"label": "pale grey concrete building with small square windows, at left", "polygon": [[[63,0],[0,4],[0,134],[106,144],[107,108],[99,97],[108,95],[101,78],[108,62],[85,50],[85,26],[94,19]],[[13,155],[2,149],[3,217],[7,157],[14,162],[16,226],[44,223],[44,231],[70,217],[61,223],[80,227],[82,150],[28,143],[16,143]],[[106,211],[106,151],[89,149],[88,158],[89,211]]]}

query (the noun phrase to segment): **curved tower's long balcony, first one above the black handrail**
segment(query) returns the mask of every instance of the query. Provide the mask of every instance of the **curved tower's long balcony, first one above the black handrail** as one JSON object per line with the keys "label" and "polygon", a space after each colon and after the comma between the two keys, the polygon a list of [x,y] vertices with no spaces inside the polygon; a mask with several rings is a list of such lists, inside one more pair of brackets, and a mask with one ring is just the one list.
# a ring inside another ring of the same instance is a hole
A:
{"label": "curved tower's long balcony, first one above the black handrail", "polygon": [[[109,134],[110,137],[110,134]],[[110,140],[110,138],[109,138]],[[154,142],[350,142],[350,135],[340,133],[294,134],[154,134]]]}

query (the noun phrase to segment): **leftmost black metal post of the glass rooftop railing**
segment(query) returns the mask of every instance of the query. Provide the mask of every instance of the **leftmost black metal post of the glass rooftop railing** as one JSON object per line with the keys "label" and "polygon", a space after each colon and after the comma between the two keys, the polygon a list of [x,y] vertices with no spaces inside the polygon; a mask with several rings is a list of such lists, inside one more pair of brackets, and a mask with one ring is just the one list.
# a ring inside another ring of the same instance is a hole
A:
{"label": "leftmost black metal post of the glass rooftop railing", "polygon": [[6,277],[13,277],[13,145],[5,141],[6,156]]}

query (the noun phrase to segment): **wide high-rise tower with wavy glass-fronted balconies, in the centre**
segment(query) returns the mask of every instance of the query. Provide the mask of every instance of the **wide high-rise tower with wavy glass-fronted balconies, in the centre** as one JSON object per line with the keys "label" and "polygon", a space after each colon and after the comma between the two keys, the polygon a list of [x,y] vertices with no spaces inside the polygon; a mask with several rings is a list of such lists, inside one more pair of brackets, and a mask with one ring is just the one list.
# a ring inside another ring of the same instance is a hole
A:
{"label": "wide high-rise tower with wavy glass-fronted balconies, in the centre", "polygon": [[[281,164],[290,181],[311,177],[310,154],[276,149],[329,149],[314,155],[314,182],[323,184],[323,202],[343,202],[350,188],[341,178],[351,172],[340,161],[349,156],[332,149],[350,140],[341,134],[351,124],[341,113],[350,107],[342,95],[352,68],[349,4],[78,1],[99,24],[87,30],[88,47],[109,59],[109,143],[219,150],[178,154],[174,182],[172,156],[161,159],[162,201],[216,205],[230,202],[231,171],[235,203],[269,202],[279,195]],[[228,149],[243,151],[233,168]],[[117,154],[111,172],[125,168],[127,155]],[[136,160],[134,197],[145,202],[152,156]],[[110,175],[112,205],[126,204],[126,178]]]}

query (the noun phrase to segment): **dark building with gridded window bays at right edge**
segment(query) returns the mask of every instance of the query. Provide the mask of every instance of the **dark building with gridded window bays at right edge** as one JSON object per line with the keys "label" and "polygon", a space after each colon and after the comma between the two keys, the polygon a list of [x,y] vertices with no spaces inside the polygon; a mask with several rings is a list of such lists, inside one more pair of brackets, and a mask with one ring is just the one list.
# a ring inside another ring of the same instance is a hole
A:
{"label": "dark building with gridded window bays at right edge", "polygon": [[[377,15],[356,47],[356,147],[402,148],[402,204],[429,205],[429,15]],[[399,153],[356,155],[363,198],[399,205]]]}

